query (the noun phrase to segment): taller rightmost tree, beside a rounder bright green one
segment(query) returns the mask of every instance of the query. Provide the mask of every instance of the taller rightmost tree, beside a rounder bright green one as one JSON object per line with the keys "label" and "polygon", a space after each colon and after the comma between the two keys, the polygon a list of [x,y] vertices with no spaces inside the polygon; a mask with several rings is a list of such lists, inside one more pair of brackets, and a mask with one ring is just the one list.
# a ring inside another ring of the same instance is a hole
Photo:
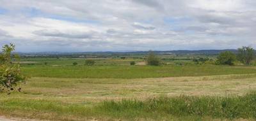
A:
{"label": "taller rightmost tree, beside a rounder bright green one", "polygon": [[254,50],[250,46],[242,46],[238,48],[237,59],[243,64],[250,65],[254,58]]}

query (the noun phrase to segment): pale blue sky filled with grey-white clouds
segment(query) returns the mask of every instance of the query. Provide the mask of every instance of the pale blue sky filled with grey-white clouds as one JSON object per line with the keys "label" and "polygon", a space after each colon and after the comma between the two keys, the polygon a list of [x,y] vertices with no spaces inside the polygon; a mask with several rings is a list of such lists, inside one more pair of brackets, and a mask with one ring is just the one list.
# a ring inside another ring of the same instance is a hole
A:
{"label": "pale blue sky filled with grey-white clouds", "polygon": [[0,0],[17,52],[256,48],[255,0]]}

